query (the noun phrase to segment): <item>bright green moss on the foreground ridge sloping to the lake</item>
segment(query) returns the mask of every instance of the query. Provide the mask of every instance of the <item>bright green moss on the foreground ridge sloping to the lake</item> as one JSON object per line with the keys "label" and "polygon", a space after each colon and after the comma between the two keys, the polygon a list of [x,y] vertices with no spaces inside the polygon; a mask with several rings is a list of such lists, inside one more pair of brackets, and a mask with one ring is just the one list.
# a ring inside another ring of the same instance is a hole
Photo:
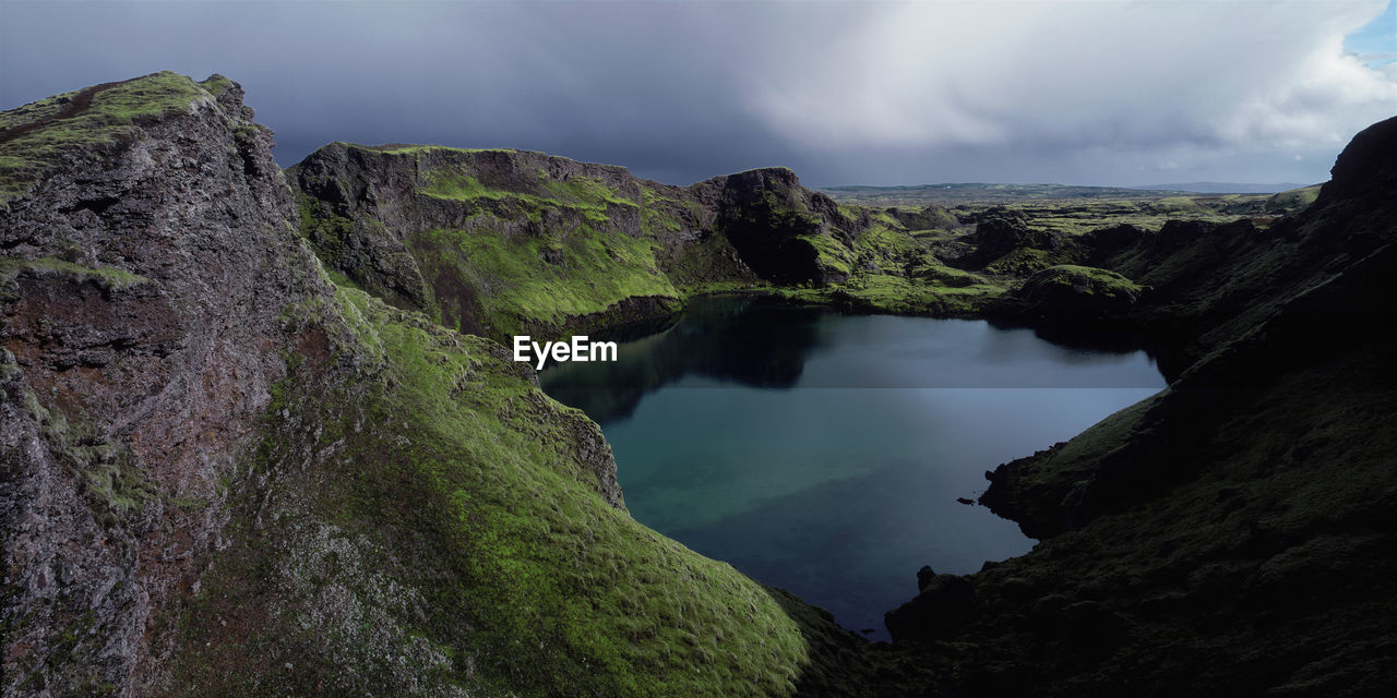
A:
{"label": "bright green moss on the foreground ridge sloping to the lake", "polygon": [[[348,300],[383,318],[365,296]],[[555,448],[570,441],[566,434],[538,438],[539,417],[573,410],[550,405],[522,380],[481,371],[483,362],[471,353],[485,353],[483,346],[453,356],[418,328],[377,329],[401,380],[386,396],[388,406],[416,422],[420,445],[412,451],[422,459],[415,469],[447,505],[448,539],[471,549],[457,558],[479,582],[467,591],[468,606],[493,616],[479,627],[490,628],[497,660],[527,667],[503,684],[556,694],[581,681],[612,695],[788,687],[803,659],[799,634],[760,586],[605,505],[587,484],[595,476],[559,462]],[[472,343],[483,341],[465,346]],[[451,395],[462,374],[482,383],[465,399]],[[502,410],[510,403],[515,409]],[[543,415],[528,403],[541,403]],[[475,438],[460,444],[461,434]],[[454,469],[441,458],[451,452],[458,454]]]}

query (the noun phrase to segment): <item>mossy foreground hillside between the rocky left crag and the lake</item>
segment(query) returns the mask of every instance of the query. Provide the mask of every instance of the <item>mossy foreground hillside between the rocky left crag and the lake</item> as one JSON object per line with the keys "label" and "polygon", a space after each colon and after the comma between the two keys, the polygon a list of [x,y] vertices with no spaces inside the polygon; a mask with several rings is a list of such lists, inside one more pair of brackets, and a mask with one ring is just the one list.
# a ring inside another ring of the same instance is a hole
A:
{"label": "mossy foreground hillside between the rocky left crag and the lake", "polygon": [[[578,450],[597,427],[503,348],[352,289],[319,311],[344,327],[330,362],[377,380],[346,392],[298,371],[279,388],[256,468],[300,505],[275,503],[258,529],[244,501],[240,540],[180,621],[182,692],[373,692],[394,658],[426,667],[432,695],[792,692],[802,627],[732,567],[609,505]],[[345,546],[317,574],[279,572]],[[268,600],[286,610],[268,617]]]}

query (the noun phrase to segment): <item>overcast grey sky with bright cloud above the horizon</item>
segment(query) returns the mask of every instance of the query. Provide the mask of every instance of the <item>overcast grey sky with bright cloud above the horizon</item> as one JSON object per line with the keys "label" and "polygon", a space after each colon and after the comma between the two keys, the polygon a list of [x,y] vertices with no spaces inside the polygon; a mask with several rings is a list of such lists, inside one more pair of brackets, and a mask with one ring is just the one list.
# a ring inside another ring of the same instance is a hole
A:
{"label": "overcast grey sky with bright cloud above the horizon", "polygon": [[1323,181],[1397,114],[1394,59],[1390,0],[0,0],[0,109],[222,73],[282,165],[436,142],[675,184]]}

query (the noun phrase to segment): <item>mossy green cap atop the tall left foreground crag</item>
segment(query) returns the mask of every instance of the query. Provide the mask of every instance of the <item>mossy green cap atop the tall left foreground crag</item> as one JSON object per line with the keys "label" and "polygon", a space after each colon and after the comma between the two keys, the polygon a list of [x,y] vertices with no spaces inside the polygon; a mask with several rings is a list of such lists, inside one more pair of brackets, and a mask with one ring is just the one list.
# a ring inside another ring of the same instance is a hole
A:
{"label": "mossy green cap atop the tall left foreground crag", "polygon": [[[226,89],[211,82],[208,87]],[[205,85],[163,71],[124,82],[64,92],[0,112],[0,204],[4,204],[75,149],[106,148],[134,138],[138,121],[169,110],[189,110],[214,99]]]}

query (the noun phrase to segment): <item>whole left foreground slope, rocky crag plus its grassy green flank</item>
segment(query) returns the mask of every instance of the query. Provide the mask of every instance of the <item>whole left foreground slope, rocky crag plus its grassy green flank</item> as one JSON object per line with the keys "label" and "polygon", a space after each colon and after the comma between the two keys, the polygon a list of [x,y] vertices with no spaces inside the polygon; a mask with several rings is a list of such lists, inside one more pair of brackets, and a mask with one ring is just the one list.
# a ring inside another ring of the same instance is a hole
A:
{"label": "whole left foreground slope, rocky crag plus its grassy green flank", "polygon": [[240,101],[0,113],[6,695],[782,695],[854,641],[630,519],[500,345],[331,283]]}

